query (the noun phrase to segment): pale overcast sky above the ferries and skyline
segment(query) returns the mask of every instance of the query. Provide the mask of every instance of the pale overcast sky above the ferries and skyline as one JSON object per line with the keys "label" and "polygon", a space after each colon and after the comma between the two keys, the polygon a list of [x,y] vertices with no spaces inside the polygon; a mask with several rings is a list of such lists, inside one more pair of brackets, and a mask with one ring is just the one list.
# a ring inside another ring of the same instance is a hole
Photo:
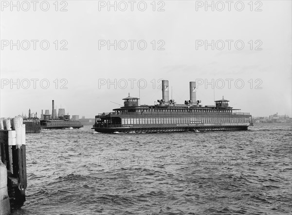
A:
{"label": "pale overcast sky above the ferries and skyline", "polygon": [[[138,97],[139,79],[144,79],[141,104],[162,98],[160,79],[169,80],[172,98],[183,103],[189,99],[189,81],[197,80],[202,105],[213,105],[215,92],[216,100],[224,95],[229,105],[253,116],[291,116],[290,0],[244,1],[243,9],[237,1],[214,1],[214,11],[201,5],[205,1],[192,0],[146,1],[145,11],[139,1],[133,3],[133,11],[128,1],[117,1],[116,11],[108,9],[108,1],[59,1],[58,8],[49,1],[47,11],[46,4],[40,7],[42,1],[36,11],[32,3],[28,10],[20,1],[17,11],[7,2],[1,1],[0,11],[1,117],[27,114],[29,108],[38,116],[41,109],[51,113],[54,99],[56,107],[70,115],[93,118],[119,107],[110,101],[122,104],[128,92]],[[17,40],[19,47],[11,47]],[[32,40],[38,40],[36,50]],[[41,46],[43,40],[47,42]],[[105,44],[114,40],[116,47]],[[214,46],[205,47],[212,40]],[[43,50],[47,43],[50,47]],[[205,85],[212,80],[215,89]],[[11,81],[16,84],[11,86]]]}

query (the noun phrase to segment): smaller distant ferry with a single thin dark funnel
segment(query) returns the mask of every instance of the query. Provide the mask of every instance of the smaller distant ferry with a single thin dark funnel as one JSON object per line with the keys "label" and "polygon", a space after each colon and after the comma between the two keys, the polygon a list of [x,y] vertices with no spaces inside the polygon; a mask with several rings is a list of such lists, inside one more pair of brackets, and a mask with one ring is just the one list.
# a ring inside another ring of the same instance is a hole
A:
{"label": "smaller distant ferry with a single thin dark funnel", "polygon": [[[52,115],[49,111],[42,114],[43,120],[40,120],[40,127],[46,129],[62,129],[62,128],[80,128],[83,127],[79,121],[70,120],[70,115],[60,115],[56,116],[56,110],[54,109],[54,100],[52,100]],[[59,109],[60,110],[60,109]],[[64,110],[65,112],[65,110]]]}

